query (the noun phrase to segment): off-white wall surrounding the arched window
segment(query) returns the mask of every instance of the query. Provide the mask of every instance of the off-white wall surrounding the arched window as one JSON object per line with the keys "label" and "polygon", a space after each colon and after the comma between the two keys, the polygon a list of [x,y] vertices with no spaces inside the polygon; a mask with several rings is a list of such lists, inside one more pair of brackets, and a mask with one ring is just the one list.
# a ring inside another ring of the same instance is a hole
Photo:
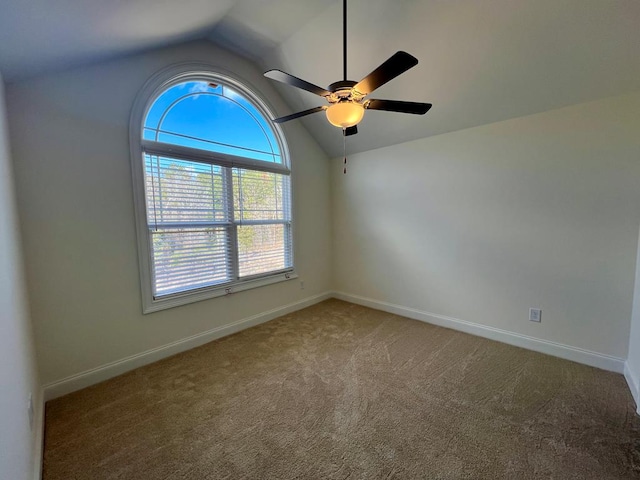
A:
{"label": "off-white wall surrounding the arched window", "polygon": [[329,162],[293,122],[285,134],[293,163],[296,268],[305,289],[294,280],[142,315],[129,114],[143,84],[181,62],[229,71],[261,93],[277,114],[288,113],[261,71],[209,42],[7,88],[32,318],[45,384],[330,288]]}

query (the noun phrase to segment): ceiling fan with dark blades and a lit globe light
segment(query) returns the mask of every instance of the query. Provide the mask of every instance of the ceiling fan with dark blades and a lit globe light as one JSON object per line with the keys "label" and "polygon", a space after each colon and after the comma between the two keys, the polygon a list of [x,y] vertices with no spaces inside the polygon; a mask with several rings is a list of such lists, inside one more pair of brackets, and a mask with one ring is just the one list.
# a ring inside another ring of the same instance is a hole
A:
{"label": "ceiling fan with dark blades and a lit globe light", "polygon": [[269,70],[264,74],[265,77],[271,80],[282,82],[286,85],[291,85],[292,87],[297,87],[324,97],[329,104],[292,113],[291,115],[276,118],[273,121],[275,123],[288,122],[289,120],[324,110],[329,123],[342,128],[343,134],[348,136],[358,133],[357,124],[360,123],[364,117],[365,110],[385,110],[388,112],[411,113],[414,115],[424,115],[427,113],[432,106],[430,103],[366,98],[367,95],[378,87],[381,87],[418,64],[418,59],[407,52],[396,52],[359,82],[347,80],[347,0],[343,0],[342,7],[343,80],[334,82],[329,85],[327,89],[324,89],[281,70]]}

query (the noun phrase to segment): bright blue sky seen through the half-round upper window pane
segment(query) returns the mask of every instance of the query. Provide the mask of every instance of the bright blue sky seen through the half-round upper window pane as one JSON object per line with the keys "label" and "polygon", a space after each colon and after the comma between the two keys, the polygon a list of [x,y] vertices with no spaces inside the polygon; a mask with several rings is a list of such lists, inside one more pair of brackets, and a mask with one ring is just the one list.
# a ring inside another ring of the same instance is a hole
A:
{"label": "bright blue sky seen through the half-round upper window pane", "polygon": [[275,134],[260,111],[235,90],[206,81],[164,91],[147,113],[143,138],[282,163]]}

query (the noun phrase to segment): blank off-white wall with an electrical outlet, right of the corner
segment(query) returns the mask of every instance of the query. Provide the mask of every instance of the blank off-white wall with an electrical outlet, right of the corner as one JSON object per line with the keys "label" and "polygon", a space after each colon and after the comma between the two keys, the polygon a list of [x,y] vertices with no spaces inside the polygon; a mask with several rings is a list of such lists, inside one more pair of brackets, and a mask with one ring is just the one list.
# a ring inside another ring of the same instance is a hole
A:
{"label": "blank off-white wall with an electrical outlet, right of the corner", "polygon": [[[638,112],[635,93],[352,155],[347,175],[336,159],[335,287],[614,357],[621,371]],[[374,135],[366,118],[360,130]],[[542,308],[541,324],[529,307]]]}

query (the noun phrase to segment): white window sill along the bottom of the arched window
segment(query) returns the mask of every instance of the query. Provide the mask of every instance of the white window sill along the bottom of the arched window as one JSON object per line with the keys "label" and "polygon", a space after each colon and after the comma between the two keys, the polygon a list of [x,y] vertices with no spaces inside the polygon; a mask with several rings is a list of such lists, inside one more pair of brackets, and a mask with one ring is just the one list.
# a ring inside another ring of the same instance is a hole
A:
{"label": "white window sill along the bottom of the arched window", "polygon": [[145,301],[142,307],[142,313],[153,313],[160,310],[166,310],[167,308],[179,307],[181,305],[187,305],[189,303],[200,302],[202,300],[208,300],[210,298],[223,297],[226,295],[233,295],[235,293],[243,292],[245,290],[251,290],[252,288],[264,287],[266,285],[272,285],[274,283],[286,282],[287,280],[293,280],[298,278],[298,274],[295,272],[283,272],[276,275],[270,275],[268,277],[256,278],[254,280],[246,280],[244,282],[225,284],[221,286],[214,286],[207,289],[198,291],[178,293],[175,295],[167,295],[158,299],[151,299],[151,301]]}

